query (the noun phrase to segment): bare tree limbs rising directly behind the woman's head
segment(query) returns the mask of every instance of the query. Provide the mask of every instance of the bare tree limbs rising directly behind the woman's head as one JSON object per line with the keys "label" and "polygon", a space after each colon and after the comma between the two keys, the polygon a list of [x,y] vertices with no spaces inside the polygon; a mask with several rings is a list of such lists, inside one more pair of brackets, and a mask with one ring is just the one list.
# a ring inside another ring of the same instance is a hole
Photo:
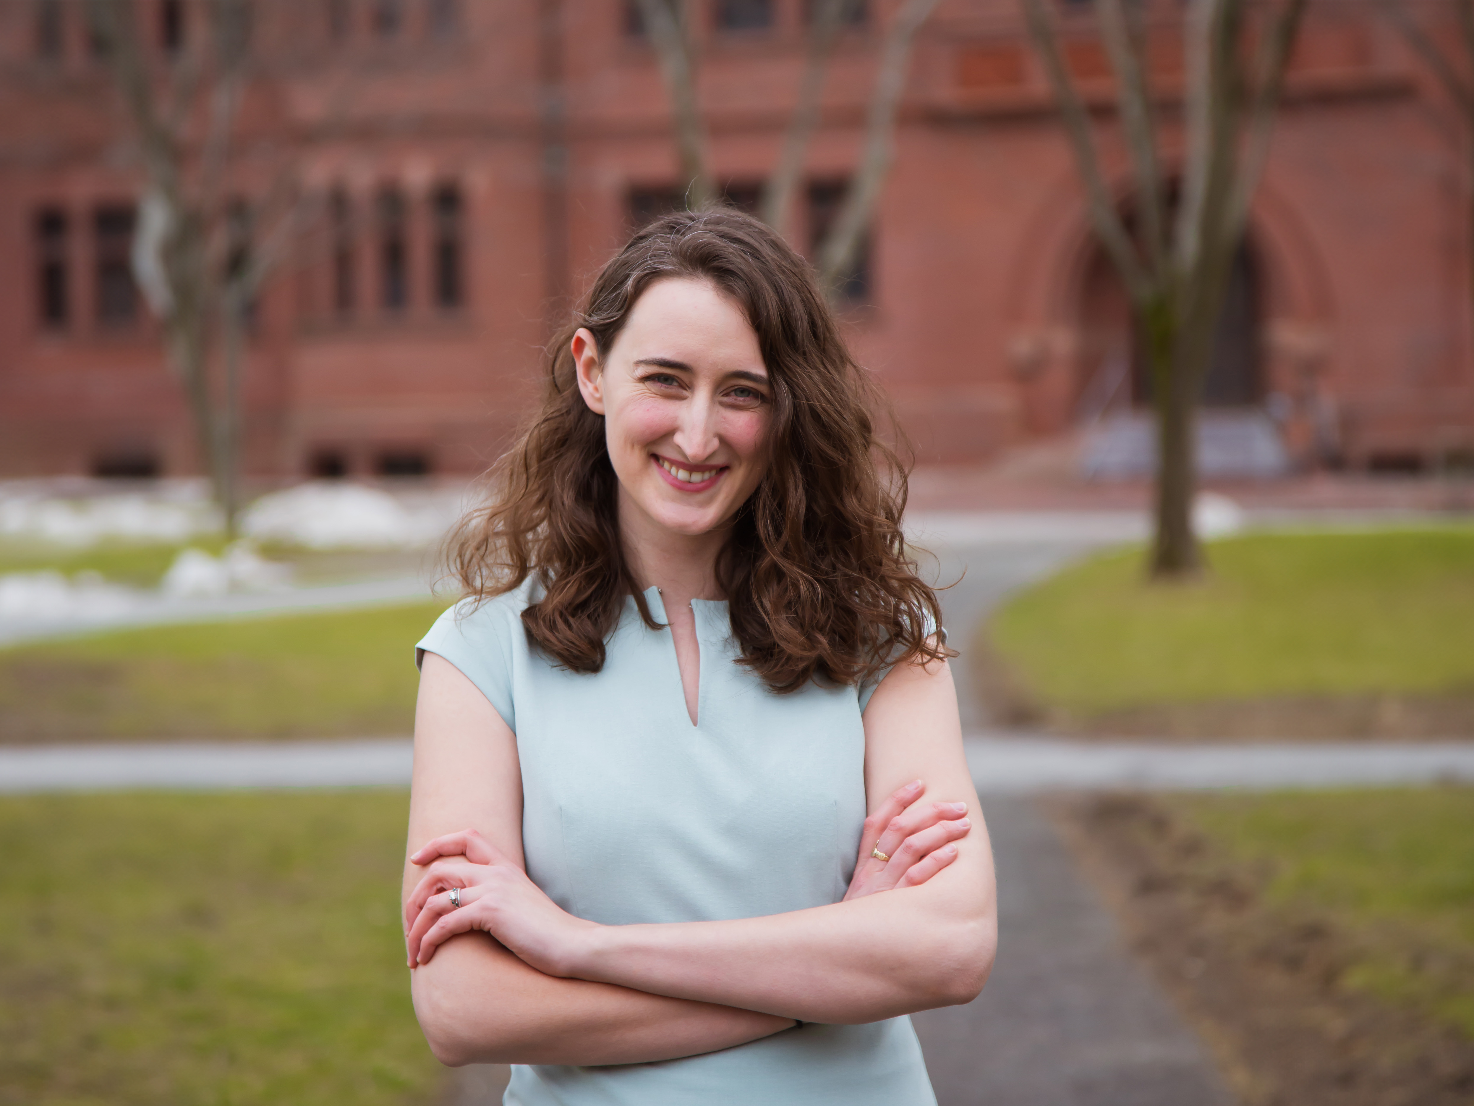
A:
{"label": "bare tree limbs rising directly behind the woman's head", "polygon": [[[640,13],[656,50],[660,72],[675,112],[675,139],[681,171],[690,187],[687,206],[697,209],[713,202],[718,190],[710,183],[706,128],[696,93],[694,47],[684,32],[677,9],[680,0],[640,0]],[[820,99],[834,41],[852,0],[818,0],[808,34],[808,55],[799,81],[799,97],[790,118],[778,162],[762,195],[762,218],[786,232],[793,193],[803,174],[808,145],[820,122]],[[833,224],[818,248],[820,279],[837,295],[855,265],[865,227],[874,214],[893,156],[896,115],[905,91],[915,34],[932,15],[937,0],[904,0],[886,28],[865,118],[865,137],[859,165],[849,180]]]}

